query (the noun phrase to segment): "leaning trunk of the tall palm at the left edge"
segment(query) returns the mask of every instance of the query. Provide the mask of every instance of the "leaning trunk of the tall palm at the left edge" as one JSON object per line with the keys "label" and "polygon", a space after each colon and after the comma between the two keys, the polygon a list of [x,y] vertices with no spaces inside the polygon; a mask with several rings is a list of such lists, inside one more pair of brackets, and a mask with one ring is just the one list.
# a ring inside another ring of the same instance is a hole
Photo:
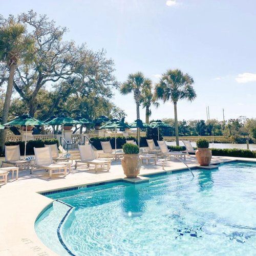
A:
{"label": "leaning trunk of the tall palm at the left edge", "polygon": [[[2,113],[2,124],[6,123],[8,120],[8,114],[9,114],[9,108],[10,108],[10,103],[11,103],[11,96],[12,96],[12,87],[13,87],[13,78],[14,78],[14,73],[16,69],[16,64],[12,64],[9,68],[9,78],[8,78],[8,83],[7,83],[7,89],[6,89],[6,94],[5,94],[5,103],[4,103],[4,108],[3,108],[3,113]],[[0,132],[0,146],[1,150],[4,152],[4,146],[5,146],[5,134],[6,130],[1,130]]]}

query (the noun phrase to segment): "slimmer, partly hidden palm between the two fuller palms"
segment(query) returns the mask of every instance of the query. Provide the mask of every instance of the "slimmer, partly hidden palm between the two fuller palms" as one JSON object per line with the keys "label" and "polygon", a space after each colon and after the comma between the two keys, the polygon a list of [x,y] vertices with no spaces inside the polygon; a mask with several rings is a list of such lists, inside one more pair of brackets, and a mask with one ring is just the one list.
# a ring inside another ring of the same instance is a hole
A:
{"label": "slimmer, partly hidden palm between the two fuller palms", "polygon": [[152,93],[152,81],[147,79],[147,87],[142,91],[142,107],[146,109],[146,123],[150,123],[151,105],[158,108],[159,103],[156,102],[156,97]]}

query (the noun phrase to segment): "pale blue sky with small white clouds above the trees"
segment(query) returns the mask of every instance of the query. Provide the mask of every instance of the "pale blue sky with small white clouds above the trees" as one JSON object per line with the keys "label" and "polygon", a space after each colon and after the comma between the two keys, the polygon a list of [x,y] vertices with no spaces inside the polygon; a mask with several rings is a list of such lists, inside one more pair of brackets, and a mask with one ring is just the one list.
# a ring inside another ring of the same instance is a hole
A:
{"label": "pale blue sky with small white clouds above the trees", "polygon": [[[154,82],[167,69],[194,78],[197,98],[178,102],[178,119],[223,120],[256,113],[255,0],[1,0],[7,17],[33,9],[47,14],[65,36],[89,48],[104,48],[123,82],[141,71]],[[136,119],[133,95],[115,92],[114,102]],[[145,110],[140,110],[145,120]],[[151,119],[174,118],[172,103],[160,101]]]}

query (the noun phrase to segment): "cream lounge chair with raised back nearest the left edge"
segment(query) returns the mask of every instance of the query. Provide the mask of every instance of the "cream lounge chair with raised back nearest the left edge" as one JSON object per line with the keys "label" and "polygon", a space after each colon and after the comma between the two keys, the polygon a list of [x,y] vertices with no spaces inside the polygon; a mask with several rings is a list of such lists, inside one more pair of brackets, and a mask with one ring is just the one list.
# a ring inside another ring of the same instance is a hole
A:
{"label": "cream lounge chair with raised back nearest the left edge", "polygon": [[2,161],[2,167],[4,165],[13,165],[15,167],[29,169],[30,161],[21,159],[19,145],[5,146],[5,161]]}

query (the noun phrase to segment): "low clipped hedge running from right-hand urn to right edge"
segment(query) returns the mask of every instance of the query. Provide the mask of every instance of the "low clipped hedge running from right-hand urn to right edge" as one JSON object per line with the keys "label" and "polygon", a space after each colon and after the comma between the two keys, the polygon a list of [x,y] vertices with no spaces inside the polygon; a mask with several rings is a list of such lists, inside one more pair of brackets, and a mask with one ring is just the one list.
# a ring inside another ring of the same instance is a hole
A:
{"label": "low clipped hedge running from right-hand urn to right edge", "polygon": [[239,148],[211,148],[212,156],[256,158],[256,151]]}

